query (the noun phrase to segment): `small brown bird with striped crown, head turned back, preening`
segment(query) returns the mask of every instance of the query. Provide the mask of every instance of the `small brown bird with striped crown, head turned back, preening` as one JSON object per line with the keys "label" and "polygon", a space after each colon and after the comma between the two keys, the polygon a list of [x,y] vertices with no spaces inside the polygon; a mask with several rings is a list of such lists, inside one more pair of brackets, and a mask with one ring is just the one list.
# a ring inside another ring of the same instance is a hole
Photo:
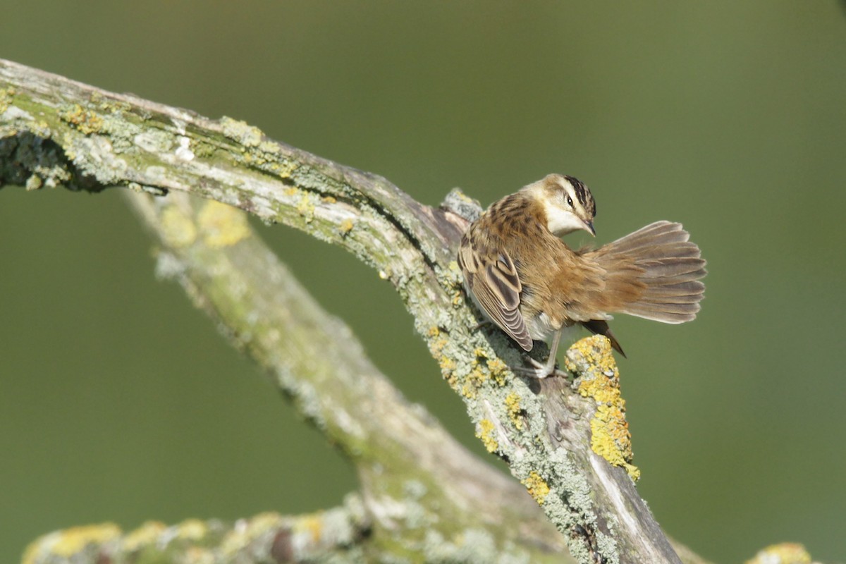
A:
{"label": "small brown bird with striped crown, head turned back, preening", "polygon": [[[580,324],[623,348],[608,328],[613,313],[664,323],[693,320],[705,292],[705,260],[680,223],[655,222],[599,249],[560,239],[596,235],[596,203],[576,178],[550,174],[494,202],[464,233],[459,266],[482,311],[526,351],[552,335],[552,374],[564,328]],[[534,362],[534,361],[533,361]]]}

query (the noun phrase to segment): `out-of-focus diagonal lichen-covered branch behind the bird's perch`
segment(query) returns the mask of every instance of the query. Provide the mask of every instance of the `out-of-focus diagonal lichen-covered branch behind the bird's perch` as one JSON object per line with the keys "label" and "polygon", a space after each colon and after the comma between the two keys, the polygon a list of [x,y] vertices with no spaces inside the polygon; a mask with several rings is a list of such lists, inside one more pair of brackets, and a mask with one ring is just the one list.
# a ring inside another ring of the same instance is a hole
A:
{"label": "out-of-focus diagonal lichen-covered branch behind the bird's perch", "polygon": [[243,212],[188,194],[129,195],[162,245],[159,274],[175,277],[354,463],[369,551],[402,545],[450,561],[460,546],[481,561],[560,561],[563,538],[525,490],[409,405]]}

